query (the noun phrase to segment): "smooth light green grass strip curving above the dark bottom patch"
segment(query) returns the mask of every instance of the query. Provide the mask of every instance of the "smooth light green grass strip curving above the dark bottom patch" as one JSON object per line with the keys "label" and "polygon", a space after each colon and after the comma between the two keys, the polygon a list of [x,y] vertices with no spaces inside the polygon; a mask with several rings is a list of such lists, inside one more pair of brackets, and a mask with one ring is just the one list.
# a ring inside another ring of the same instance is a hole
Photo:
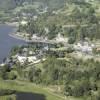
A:
{"label": "smooth light green grass strip curving above the dark bottom patch", "polygon": [[[20,92],[31,92],[43,94],[46,97],[46,100],[64,100],[63,96],[59,96],[50,92],[49,90],[42,88],[41,86],[34,85],[28,82],[19,82],[19,81],[3,81],[0,80],[0,89],[10,89]],[[0,97],[0,100],[6,100],[6,96]]]}

